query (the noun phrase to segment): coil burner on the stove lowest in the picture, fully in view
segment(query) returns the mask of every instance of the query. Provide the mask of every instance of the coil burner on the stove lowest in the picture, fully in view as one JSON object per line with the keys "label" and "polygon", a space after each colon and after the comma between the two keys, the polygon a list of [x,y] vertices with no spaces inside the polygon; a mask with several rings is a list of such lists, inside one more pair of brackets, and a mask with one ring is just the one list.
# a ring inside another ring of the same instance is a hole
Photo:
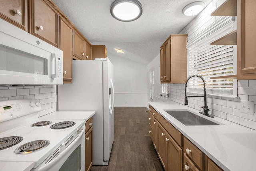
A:
{"label": "coil burner on the stove lowest in the picture, fully in view", "polygon": [[18,147],[14,152],[17,154],[28,154],[47,147],[49,144],[50,141],[48,140],[30,141]]}

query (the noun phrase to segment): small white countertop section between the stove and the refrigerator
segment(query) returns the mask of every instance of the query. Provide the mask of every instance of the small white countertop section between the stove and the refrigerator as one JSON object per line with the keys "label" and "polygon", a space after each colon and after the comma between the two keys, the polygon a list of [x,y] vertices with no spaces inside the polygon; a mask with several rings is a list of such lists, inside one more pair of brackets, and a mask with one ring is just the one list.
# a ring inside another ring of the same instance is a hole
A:
{"label": "small white countertop section between the stove and the refrigerator", "polygon": [[39,117],[40,119],[90,119],[95,111],[55,111]]}

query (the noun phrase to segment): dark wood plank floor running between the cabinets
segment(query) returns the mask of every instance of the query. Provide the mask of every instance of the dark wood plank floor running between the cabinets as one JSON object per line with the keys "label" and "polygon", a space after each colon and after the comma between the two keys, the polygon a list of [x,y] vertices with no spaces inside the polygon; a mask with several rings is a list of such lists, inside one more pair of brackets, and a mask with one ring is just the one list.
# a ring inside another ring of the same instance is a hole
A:
{"label": "dark wood plank floor running between the cabinets", "polygon": [[146,107],[115,107],[115,138],[108,166],[91,171],[164,171],[152,144]]}

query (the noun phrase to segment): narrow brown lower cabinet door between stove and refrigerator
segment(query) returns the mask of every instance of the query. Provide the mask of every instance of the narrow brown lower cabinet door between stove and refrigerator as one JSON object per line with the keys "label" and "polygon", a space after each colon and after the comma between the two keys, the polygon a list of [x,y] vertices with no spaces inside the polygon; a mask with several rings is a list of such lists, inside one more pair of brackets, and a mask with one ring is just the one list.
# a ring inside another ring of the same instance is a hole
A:
{"label": "narrow brown lower cabinet door between stove and refrigerator", "polygon": [[85,170],[92,167],[92,128],[85,134]]}

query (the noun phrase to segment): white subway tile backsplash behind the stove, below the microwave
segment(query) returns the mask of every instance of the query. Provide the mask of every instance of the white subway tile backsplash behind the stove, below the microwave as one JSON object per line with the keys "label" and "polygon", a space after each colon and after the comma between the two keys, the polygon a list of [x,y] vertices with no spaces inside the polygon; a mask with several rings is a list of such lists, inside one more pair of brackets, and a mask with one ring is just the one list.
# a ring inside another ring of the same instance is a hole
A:
{"label": "white subway tile backsplash behind the stove, below the microwave", "polygon": [[40,116],[43,116],[56,111],[56,87],[56,85],[0,87],[0,100],[38,99],[42,106]]}

